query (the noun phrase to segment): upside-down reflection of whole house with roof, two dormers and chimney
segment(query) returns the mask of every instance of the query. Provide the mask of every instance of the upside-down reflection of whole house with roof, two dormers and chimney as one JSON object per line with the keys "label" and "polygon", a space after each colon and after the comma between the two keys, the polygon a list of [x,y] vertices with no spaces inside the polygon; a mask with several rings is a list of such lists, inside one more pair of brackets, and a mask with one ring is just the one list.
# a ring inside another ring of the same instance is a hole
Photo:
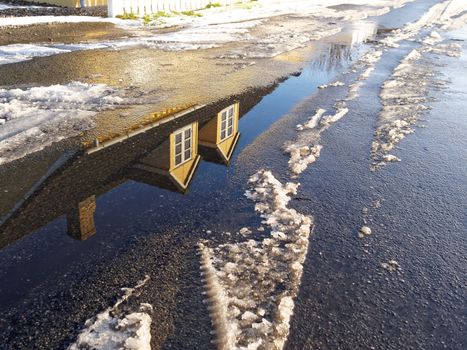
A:
{"label": "upside-down reflection of whole house with roof, two dormers and chimney", "polygon": [[[26,169],[33,167],[33,156],[18,162],[24,166],[20,170],[4,169],[2,177],[21,178],[20,182],[27,178],[31,185],[26,194],[0,196],[6,209],[0,219],[0,248],[64,215],[70,236],[80,240],[92,236],[98,231],[94,225],[96,200],[128,180],[185,193],[200,157],[228,164],[239,137],[239,118],[275,86],[167,116],[164,123],[152,128],[146,125],[143,131],[101,144],[92,153],[63,154],[31,179]],[[14,193],[13,182],[3,184],[11,186],[1,188],[5,193]]]}

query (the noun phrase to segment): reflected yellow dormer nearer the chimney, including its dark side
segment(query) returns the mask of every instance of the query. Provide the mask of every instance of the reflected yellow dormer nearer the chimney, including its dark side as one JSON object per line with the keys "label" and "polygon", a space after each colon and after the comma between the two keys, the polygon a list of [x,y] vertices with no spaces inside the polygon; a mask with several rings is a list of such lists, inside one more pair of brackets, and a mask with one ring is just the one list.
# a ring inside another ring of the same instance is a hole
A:
{"label": "reflected yellow dormer nearer the chimney, including its dark side", "polygon": [[159,147],[134,164],[132,180],[185,192],[198,166],[198,122],[175,130]]}

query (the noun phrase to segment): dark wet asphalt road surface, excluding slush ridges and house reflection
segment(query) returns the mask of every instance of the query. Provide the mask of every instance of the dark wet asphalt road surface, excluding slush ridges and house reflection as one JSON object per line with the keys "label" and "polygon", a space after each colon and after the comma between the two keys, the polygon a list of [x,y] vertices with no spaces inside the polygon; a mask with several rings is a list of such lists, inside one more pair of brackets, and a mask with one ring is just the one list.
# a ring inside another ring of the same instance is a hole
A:
{"label": "dark wet asphalt road surface, excluding slush ridges and house reflection", "polygon": [[[465,31],[452,36],[467,40]],[[436,102],[420,123],[426,127],[417,128],[396,152],[402,162],[372,173],[369,150],[379,88],[413,44],[385,54],[361,97],[349,103],[349,114],[323,134],[322,155],[299,178],[301,200],[293,202],[314,216],[316,227],[288,349],[467,348],[467,86],[462,78],[467,46],[461,44],[461,59],[439,59],[451,84],[433,91]],[[310,93],[315,91],[319,79],[310,76],[279,87],[242,122],[251,127],[271,113],[277,118],[266,125],[275,122],[306,96],[291,100],[294,91],[307,83],[313,85]],[[3,249],[0,281],[8,300],[2,299],[0,339],[5,348],[63,348],[87,318],[120,296],[120,287],[145,274],[151,280],[128,308],[153,304],[153,348],[214,348],[196,242],[227,241],[231,238],[222,232],[258,223],[252,203],[243,197],[247,177],[267,166],[287,179],[280,146],[293,139],[298,122],[317,107],[331,108],[345,89],[319,91],[261,135],[246,134],[231,167],[203,164],[185,197],[127,182],[100,197],[92,239],[71,240],[59,218]],[[374,200],[382,206],[370,210],[373,234],[361,240],[362,209]],[[400,272],[381,268],[391,259],[400,263]],[[5,282],[15,281],[20,289],[5,288]]]}

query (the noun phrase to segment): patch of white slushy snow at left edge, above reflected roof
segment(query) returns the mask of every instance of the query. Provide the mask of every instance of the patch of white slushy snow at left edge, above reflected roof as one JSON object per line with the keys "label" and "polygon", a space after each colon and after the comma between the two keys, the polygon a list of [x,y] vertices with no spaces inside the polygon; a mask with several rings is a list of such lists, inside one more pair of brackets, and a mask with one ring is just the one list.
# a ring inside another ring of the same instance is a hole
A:
{"label": "patch of white slushy snow at left edge, above reflected roof", "polygon": [[119,91],[104,84],[0,89],[0,164],[77,136],[92,127],[99,111],[125,103]]}

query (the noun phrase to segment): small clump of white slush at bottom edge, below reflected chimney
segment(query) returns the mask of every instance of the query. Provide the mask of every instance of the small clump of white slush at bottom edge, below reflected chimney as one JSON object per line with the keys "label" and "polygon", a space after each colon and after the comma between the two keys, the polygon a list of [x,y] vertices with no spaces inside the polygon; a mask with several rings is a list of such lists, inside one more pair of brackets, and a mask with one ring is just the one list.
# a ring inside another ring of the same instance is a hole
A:
{"label": "small clump of white slush at bottom edge, below reflected chimney", "polygon": [[113,305],[84,324],[84,329],[68,350],[122,349],[151,350],[152,306],[141,304],[138,312],[125,314],[121,305],[142,288],[149,276],[134,288],[123,288],[124,295]]}

